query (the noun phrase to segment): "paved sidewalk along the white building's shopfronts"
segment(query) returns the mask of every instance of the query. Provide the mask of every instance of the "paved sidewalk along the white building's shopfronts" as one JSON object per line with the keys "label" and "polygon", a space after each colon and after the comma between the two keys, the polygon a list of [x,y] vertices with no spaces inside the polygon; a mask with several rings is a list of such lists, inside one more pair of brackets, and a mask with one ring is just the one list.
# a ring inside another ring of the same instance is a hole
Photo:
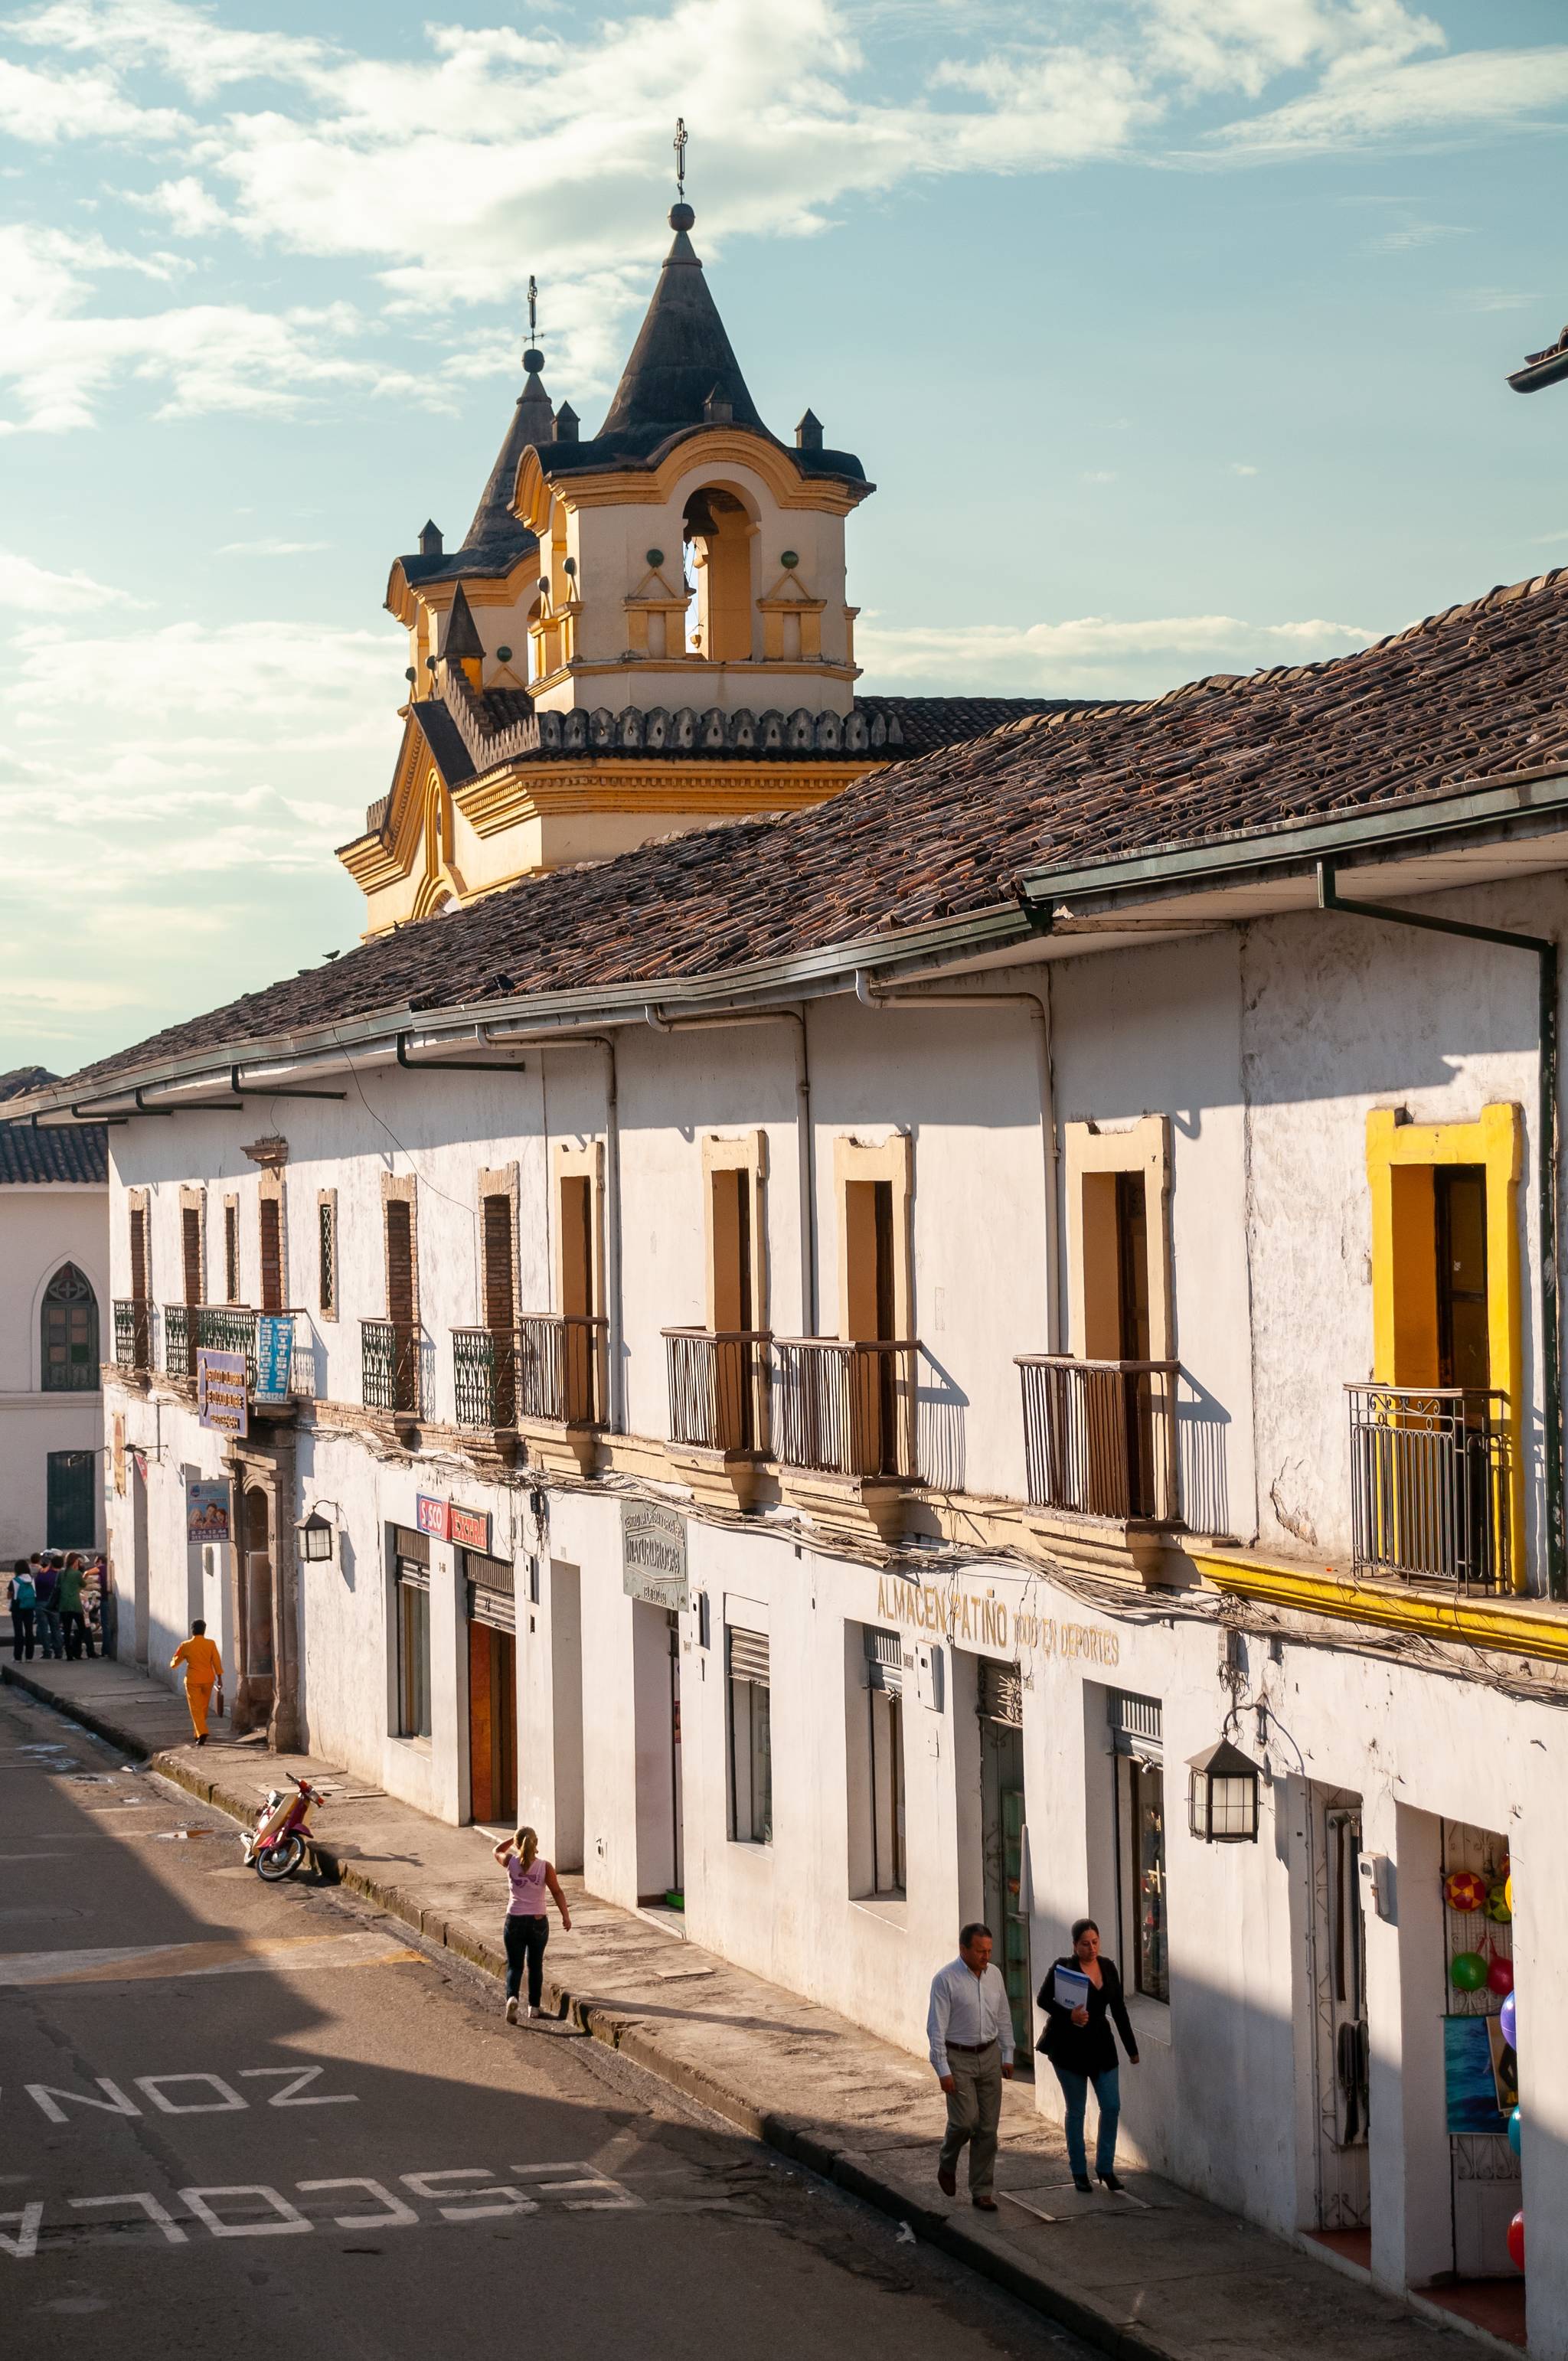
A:
{"label": "paved sidewalk along the white building's shopfronts", "polygon": [[[349,1773],[255,1740],[189,1745],[182,1700],[132,1667],[9,1662],[57,1705],[203,1801],[253,1818],[279,1771],[333,1787],[321,1813],[328,1875],[494,1976],[501,1901],[489,1839],[446,1827]],[[942,2097],[928,2066],[831,2009],[727,1967],[668,1927],[564,1877],[571,1934],[545,1953],[545,2009],[623,2049],[782,2156],[907,2222],[1119,2361],[1462,2361],[1469,2337],[1374,2295],[1358,2276],[1235,2222],[1155,2174],[1129,2196],[1079,2198],[1060,2134],[1027,2082],[1004,2097],[1001,2212],[935,2186]],[[1063,2186],[1065,2184],[1065,2186]],[[1490,2342],[1490,2340],[1488,2340]]]}

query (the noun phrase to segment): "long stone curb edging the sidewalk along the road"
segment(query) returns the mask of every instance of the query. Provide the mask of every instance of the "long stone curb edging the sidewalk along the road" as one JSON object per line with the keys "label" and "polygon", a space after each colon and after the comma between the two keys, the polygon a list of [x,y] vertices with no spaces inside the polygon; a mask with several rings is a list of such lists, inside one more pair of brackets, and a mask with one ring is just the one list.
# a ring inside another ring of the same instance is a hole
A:
{"label": "long stone curb edging the sidewalk along the road", "polygon": [[[250,1799],[224,1794],[220,1780],[203,1778],[194,1764],[182,1761],[177,1754],[149,1754],[139,1738],[132,1738],[116,1724],[104,1721],[102,1714],[92,1714],[73,1698],[54,1695],[54,1690],[45,1688],[40,1681],[31,1681],[26,1674],[14,1672],[9,1665],[0,1665],[0,1683],[26,1690],[26,1695],[38,1698],[40,1705],[52,1705],[54,1712],[66,1714],[68,1721],[80,1721],[80,1726],[92,1731],[97,1738],[106,1738],[109,1745],[144,1761],[149,1771],[158,1771],[175,1787],[184,1787],[184,1792],[194,1794],[196,1801],[213,1804],[215,1811],[227,1813],[231,1820],[250,1820]],[[411,1896],[399,1894],[397,1886],[366,1877],[366,1872],[354,1868],[352,1860],[340,1860],[331,1846],[314,1844],[314,1851],[328,1884],[342,1884],[349,1894],[359,1894],[361,1901],[375,1903],[378,1910],[401,1919],[404,1927],[423,1934],[427,1943],[439,1943],[458,1960],[468,1960],[468,1964],[477,1967],[484,1976],[494,1976],[496,1981],[505,1976],[505,1957],[491,1943],[482,1943],[460,1927],[449,1924],[439,1912],[425,1910]],[[952,2255],[954,2262],[961,2262],[980,2278],[989,2278],[994,2285],[1006,2288],[1006,2293],[1020,2304],[1027,2304],[1030,2311],[1039,2311],[1060,2328],[1072,2330],[1072,2335],[1082,2337],[1084,2344],[1093,2344],[1098,2352],[1110,2354],[1112,2361],[1181,2361],[1181,2354],[1174,2347],[1162,2344],[1159,2337],[1150,2335],[1145,2328],[1117,2321],[1108,2311],[1096,2311],[1093,2304],[1082,2297],[1051,2285],[1051,2281],[1032,2271],[1020,2255],[989,2245],[982,2234],[971,2231],[954,2215],[912,2203],[890,2182],[878,2179],[862,2156],[850,2149],[836,2149],[822,2139],[812,2123],[796,2115],[775,2115],[770,2108],[758,2108],[749,2099],[739,2097],[739,2092],[727,2089],[723,2082],[713,2082],[699,2066],[690,2066],[685,2059],[671,2059],[659,2042],[642,2030],[642,2021],[635,2014],[623,2014],[588,1997],[574,1997],[564,1983],[553,1983],[550,1979],[545,1979],[543,2000],[548,2014],[555,2014],[562,2023],[576,2026],[579,2033],[590,2035],[595,2042],[605,2042],[607,2049],[619,2049],[633,2061],[633,2066],[640,2066],[645,2073],[654,2075],[654,2080],[666,2082],[671,2089],[678,2089],[699,2106],[706,2106],[708,2113],[732,2123],[734,2130],[760,2141],[765,2149],[772,2149],[777,2156],[786,2156],[793,2165],[803,2165],[819,2179],[834,2182],[834,2186],[862,2198],[890,2219],[900,2224],[907,2222],[923,2245],[940,2248],[940,2252]]]}

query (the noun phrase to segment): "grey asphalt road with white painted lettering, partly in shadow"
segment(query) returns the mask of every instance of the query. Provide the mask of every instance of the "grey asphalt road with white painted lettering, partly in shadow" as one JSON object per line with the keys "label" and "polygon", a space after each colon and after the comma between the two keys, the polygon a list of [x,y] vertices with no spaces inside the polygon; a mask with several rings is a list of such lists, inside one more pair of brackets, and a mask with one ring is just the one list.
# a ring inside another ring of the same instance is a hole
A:
{"label": "grey asphalt road with white painted lettering, partly in shadow", "polygon": [[0,2319],[12,2361],[1086,2354],[14,1690]]}

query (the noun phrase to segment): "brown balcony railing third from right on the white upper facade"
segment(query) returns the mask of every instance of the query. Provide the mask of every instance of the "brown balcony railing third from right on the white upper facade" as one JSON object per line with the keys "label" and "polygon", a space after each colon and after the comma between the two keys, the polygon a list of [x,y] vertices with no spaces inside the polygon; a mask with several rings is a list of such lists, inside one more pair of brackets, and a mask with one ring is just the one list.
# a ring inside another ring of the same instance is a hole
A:
{"label": "brown balcony railing third from right on the white upper facade", "polygon": [[919,1483],[919,1343],[789,1336],[772,1355],[772,1431],[784,1466]]}

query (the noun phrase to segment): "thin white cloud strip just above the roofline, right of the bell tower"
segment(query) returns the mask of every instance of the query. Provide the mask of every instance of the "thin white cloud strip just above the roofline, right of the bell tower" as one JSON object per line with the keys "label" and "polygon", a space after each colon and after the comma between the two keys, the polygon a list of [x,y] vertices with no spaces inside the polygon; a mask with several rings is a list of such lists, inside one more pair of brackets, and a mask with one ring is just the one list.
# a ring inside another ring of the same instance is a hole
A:
{"label": "thin white cloud strip just above the roofline, right of the bell tower", "polygon": [[1074,616],[1063,623],[959,623],[897,628],[862,621],[855,654],[867,689],[914,682],[926,689],[978,687],[1018,694],[1148,696],[1195,673],[1247,673],[1259,663],[1311,663],[1365,647],[1377,630],[1332,623],[1247,623],[1230,614]]}

